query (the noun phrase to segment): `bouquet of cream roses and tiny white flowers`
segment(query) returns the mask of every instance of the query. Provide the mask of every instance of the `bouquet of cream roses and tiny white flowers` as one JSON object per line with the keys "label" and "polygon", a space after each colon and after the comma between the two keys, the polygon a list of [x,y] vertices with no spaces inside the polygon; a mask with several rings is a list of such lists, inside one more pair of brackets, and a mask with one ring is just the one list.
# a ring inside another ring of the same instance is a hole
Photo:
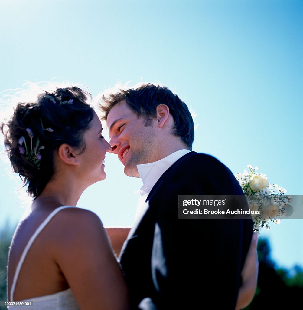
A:
{"label": "bouquet of cream roses and tiny white flowers", "polygon": [[249,209],[254,211],[253,230],[259,234],[262,228],[270,228],[269,220],[280,224],[279,217],[287,215],[292,197],[285,196],[285,188],[269,183],[265,174],[256,172],[257,166],[253,168],[248,165],[247,168],[243,173],[238,172],[235,177],[246,196]]}

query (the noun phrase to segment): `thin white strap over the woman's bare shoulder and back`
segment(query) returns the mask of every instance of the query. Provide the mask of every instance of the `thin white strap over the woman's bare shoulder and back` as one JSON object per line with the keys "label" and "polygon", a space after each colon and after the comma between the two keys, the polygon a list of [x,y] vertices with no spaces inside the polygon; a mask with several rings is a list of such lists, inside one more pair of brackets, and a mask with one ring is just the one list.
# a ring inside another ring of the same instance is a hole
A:
{"label": "thin white strap over the woman's bare shoulder and back", "polygon": [[14,280],[13,280],[13,285],[11,286],[11,301],[14,301],[13,297],[14,297],[14,291],[15,291],[15,287],[16,287],[16,283],[19,277],[19,273],[22,267],[22,264],[24,262],[24,259],[28,253],[28,250],[30,249],[30,247],[32,246],[32,243],[35,241],[35,239],[37,238],[37,236],[39,235],[39,233],[42,231],[43,228],[45,228],[45,226],[49,223],[49,221],[54,217],[54,215],[56,215],[60,210],[65,209],[65,208],[75,208],[74,206],[63,206],[63,207],[59,207],[57,209],[55,209],[53,212],[50,213],[50,215],[48,215],[48,217],[40,224],[40,226],[37,228],[37,230],[35,231],[35,233],[32,235],[32,237],[29,239],[27,245],[25,246],[23,253],[20,257],[19,263],[17,265],[16,271],[15,271],[15,275],[14,275]]}

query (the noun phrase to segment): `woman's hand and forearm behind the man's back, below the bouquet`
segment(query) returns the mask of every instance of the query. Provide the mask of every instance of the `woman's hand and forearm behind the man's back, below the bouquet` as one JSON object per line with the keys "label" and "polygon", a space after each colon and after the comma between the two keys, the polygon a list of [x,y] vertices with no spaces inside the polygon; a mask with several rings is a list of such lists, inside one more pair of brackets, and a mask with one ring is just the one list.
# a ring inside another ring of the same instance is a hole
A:
{"label": "woman's hand and forearm behind the man's back, below the bouquet", "polygon": [[239,290],[236,309],[240,310],[249,305],[257,288],[258,280],[258,254],[257,254],[257,233],[253,233],[249,250],[245,258],[244,267],[241,272],[242,285]]}

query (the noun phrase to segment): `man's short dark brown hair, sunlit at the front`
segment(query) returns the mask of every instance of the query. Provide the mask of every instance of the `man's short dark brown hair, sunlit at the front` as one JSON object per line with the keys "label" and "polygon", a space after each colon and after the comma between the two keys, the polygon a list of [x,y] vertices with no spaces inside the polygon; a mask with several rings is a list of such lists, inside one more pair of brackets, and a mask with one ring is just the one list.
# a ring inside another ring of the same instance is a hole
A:
{"label": "man's short dark brown hair, sunlit at the front", "polygon": [[152,126],[151,118],[157,117],[157,106],[166,104],[175,121],[173,134],[179,136],[188,148],[192,149],[194,139],[193,117],[187,105],[167,87],[149,83],[135,89],[119,89],[115,94],[103,95],[102,102],[99,104],[104,113],[102,119],[106,121],[111,108],[124,99],[138,117],[144,118],[146,127]]}

